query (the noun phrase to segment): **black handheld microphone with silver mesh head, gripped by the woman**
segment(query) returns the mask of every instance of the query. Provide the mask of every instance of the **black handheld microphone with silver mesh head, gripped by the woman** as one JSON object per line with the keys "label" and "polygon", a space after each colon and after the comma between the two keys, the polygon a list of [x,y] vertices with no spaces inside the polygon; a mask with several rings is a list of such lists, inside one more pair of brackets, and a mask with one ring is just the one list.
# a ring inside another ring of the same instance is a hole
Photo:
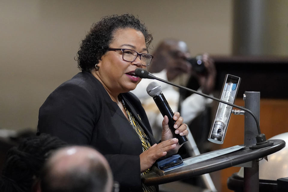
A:
{"label": "black handheld microphone with silver mesh head, gripped by the woman", "polygon": [[[136,72],[136,70],[135,70]],[[149,73],[149,72],[148,72]],[[136,74],[136,73],[135,73]],[[179,134],[175,134],[175,128],[174,124],[176,121],[173,120],[174,113],[171,110],[168,102],[166,101],[166,98],[164,97],[162,93],[162,88],[157,82],[151,82],[146,88],[146,91],[148,95],[153,97],[153,100],[155,101],[157,107],[159,108],[161,114],[163,117],[167,115],[168,117],[168,126],[173,134],[173,137],[176,137],[178,139],[178,143],[182,145],[183,143],[186,143],[188,140],[185,136],[181,136]]]}

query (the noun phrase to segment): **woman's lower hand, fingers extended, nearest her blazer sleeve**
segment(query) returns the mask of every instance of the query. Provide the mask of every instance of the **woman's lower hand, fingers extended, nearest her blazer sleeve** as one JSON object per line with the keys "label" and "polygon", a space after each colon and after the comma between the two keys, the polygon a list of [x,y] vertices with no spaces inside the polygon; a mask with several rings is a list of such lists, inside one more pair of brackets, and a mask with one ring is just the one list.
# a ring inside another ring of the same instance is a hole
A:
{"label": "woman's lower hand, fingers extended, nearest her blazer sleeve", "polygon": [[140,154],[140,170],[141,173],[149,169],[157,159],[164,157],[168,151],[174,149],[178,143],[178,139],[173,138],[163,141],[159,144],[155,143],[148,150]]}

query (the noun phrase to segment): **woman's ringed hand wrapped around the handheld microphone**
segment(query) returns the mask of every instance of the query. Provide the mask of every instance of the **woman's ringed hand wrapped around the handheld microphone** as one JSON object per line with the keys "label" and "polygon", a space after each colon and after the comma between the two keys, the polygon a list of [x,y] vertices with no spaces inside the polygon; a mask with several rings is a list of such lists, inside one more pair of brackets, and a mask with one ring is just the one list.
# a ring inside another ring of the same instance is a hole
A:
{"label": "woman's ringed hand wrapped around the handheld microphone", "polygon": [[[175,134],[179,134],[181,136],[186,137],[189,132],[187,130],[187,125],[183,124],[183,118],[180,116],[179,112],[174,113],[173,120],[176,121],[174,124]],[[161,141],[165,141],[165,140],[169,140],[169,139],[173,138],[173,134],[172,134],[172,132],[168,126],[168,121],[169,121],[168,117],[164,116],[164,120],[162,122],[162,139],[161,139]],[[179,145],[179,143],[177,143],[176,147],[173,150],[170,150],[168,152],[168,155],[176,154],[182,145]]]}

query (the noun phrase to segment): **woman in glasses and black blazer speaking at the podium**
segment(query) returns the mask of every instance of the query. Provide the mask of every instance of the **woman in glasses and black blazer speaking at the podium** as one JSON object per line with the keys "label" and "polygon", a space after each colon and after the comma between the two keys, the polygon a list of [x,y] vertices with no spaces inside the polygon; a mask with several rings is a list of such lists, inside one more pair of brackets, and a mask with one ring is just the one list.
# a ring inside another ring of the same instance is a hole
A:
{"label": "woman in glasses and black blazer speaking at the podium", "polygon": [[[80,44],[82,72],[56,88],[39,110],[39,132],[95,147],[107,158],[120,191],[157,191],[157,186],[141,183],[140,175],[181,147],[167,116],[157,144],[140,101],[129,92],[141,80],[134,70],[145,69],[153,58],[148,53],[152,39],[133,15],[102,18]],[[173,119],[175,133],[186,136],[187,125],[178,112]]]}

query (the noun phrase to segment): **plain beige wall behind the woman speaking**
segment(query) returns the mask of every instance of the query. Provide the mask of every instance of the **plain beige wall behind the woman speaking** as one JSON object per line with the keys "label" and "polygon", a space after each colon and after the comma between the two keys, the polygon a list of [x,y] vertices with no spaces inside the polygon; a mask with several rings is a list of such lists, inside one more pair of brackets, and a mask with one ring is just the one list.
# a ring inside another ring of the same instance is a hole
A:
{"label": "plain beige wall behind the woman speaking", "polygon": [[[74,56],[93,22],[108,14],[138,14],[154,37],[187,42],[193,54],[229,54],[232,2],[0,1],[0,128],[35,128],[38,110],[79,72]],[[152,51],[151,51],[152,52]]]}

